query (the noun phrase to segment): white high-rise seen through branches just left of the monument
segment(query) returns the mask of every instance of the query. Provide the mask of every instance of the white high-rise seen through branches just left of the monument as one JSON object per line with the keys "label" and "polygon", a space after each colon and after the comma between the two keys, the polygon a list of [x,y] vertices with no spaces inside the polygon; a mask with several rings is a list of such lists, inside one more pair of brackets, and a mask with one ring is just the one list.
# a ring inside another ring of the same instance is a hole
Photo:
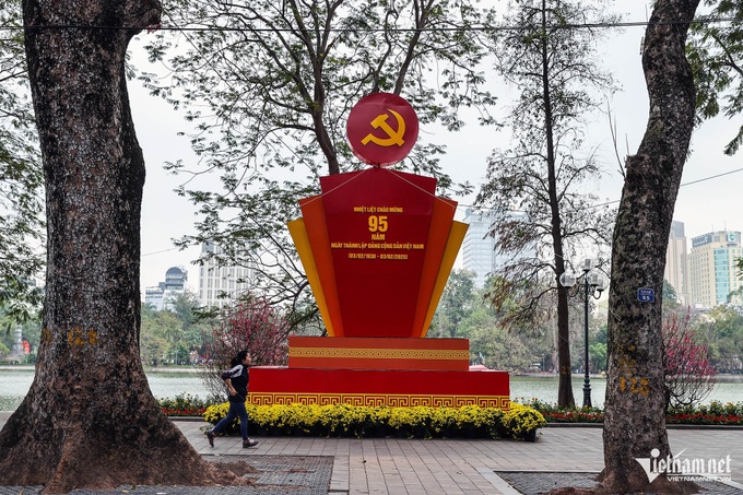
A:
{"label": "white high-rise seen through branches just left of the monument", "polygon": [[238,266],[220,266],[212,255],[222,254],[214,243],[201,245],[201,267],[199,267],[199,302],[207,307],[222,307],[247,292],[251,285],[255,270]]}

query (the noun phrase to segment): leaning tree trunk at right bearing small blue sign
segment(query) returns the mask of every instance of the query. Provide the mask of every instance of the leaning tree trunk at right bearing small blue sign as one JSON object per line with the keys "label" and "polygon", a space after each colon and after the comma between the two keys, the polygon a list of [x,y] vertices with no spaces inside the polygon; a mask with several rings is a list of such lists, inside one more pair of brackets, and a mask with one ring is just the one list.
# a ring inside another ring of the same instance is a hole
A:
{"label": "leaning tree trunk at right bearing small blue sign", "polygon": [[[653,449],[661,459],[671,453],[661,294],[665,248],[694,127],[695,90],[684,47],[698,2],[658,0],[645,35],[642,68],[650,115],[637,154],[627,158],[612,247],[603,431],[603,487],[609,493],[648,490],[648,476],[636,459],[650,459]],[[638,302],[640,287],[653,288],[656,302]],[[662,493],[679,488],[664,476],[651,486]]]}

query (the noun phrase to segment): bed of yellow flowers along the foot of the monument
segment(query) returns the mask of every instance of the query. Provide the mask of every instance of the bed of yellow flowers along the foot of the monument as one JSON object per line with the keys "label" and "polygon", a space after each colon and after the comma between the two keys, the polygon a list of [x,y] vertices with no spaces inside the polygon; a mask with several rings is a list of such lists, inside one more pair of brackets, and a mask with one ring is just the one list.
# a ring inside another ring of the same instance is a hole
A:
{"label": "bed of yellow flowers along the foot of the monument", "polygon": [[[538,411],[511,404],[509,411],[463,408],[368,408],[339,405],[246,404],[250,429],[257,435],[307,435],[400,438],[514,438],[534,441],[546,422]],[[216,424],[228,403],[211,405],[204,420]],[[232,426],[236,431],[237,425]]]}

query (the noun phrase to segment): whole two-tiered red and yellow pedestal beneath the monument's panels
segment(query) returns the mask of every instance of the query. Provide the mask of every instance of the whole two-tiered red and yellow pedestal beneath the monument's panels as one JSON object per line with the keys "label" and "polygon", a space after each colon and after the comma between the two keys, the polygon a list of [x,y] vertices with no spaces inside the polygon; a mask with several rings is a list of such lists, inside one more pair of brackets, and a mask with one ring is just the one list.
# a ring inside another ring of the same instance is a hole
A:
{"label": "whole two-tiered red and yellow pedestal beneath the monument's panels", "polygon": [[467,339],[294,337],[288,367],[251,368],[250,401],[508,409],[508,374],[470,370],[469,354]]}

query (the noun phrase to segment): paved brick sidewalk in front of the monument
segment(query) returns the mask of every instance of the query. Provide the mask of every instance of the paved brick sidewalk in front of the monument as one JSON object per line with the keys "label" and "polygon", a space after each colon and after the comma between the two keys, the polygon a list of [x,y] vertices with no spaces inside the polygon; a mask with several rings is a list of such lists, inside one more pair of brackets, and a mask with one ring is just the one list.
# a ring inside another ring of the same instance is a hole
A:
{"label": "paved brick sidewalk in front of the monument", "polygon": [[[8,415],[0,413],[0,427]],[[598,473],[603,468],[602,431],[597,427],[546,427],[535,443],[257,437],[257,448],[243,449],[237,437],[217,437],[211,448],[201,429],[204,422],[175,423],[205,456],[244,456],[248,461],[252,456],[332,457],[329,494],[515,495],[519,492],[496,472]],[[683,450],[684,458],[730,456],[730,493],[743,494],[743,429],[669,429],[669,438],[672,451]]]}

